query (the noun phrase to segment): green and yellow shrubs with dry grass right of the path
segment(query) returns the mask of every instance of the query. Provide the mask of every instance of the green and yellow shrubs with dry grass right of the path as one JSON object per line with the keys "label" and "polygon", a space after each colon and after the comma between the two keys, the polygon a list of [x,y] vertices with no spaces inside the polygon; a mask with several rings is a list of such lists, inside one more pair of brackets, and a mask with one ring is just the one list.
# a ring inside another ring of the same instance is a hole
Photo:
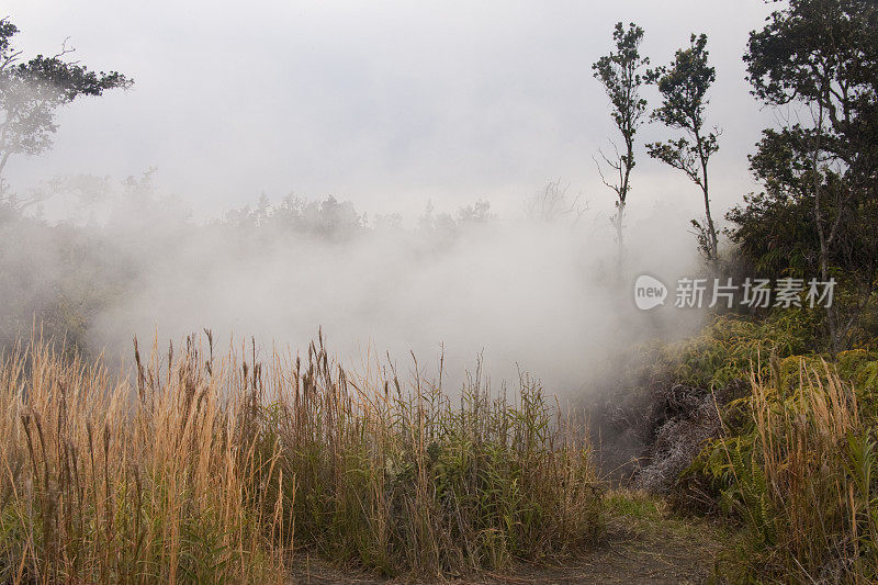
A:
{"label": "green and yellow shrubs with dry grass right of the path", "polygon": [[878,352],[831,356],[818,339],[804,312],[787,312],[719,317],[644,348],[629,405],[645,407],[651,436],[640,481],[680,511],[740,527],[727,577],[878,577]]}

